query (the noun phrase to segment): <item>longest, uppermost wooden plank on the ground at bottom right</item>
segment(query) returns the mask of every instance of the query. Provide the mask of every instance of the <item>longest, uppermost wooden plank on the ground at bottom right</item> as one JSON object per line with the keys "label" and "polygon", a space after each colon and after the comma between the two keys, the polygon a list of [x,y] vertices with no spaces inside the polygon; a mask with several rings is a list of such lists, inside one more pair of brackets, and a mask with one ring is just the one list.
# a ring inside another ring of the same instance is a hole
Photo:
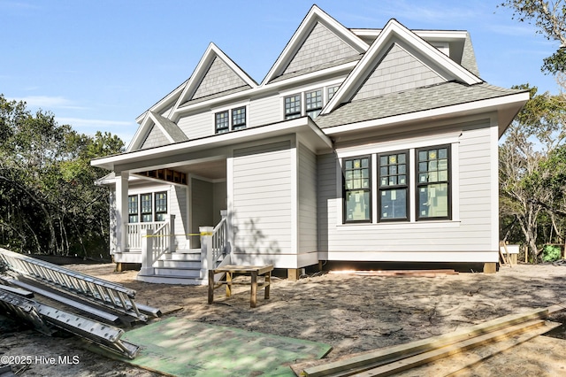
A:
{"label": "longest, uppermost wooden plank on the ground at bottom right", "polygon": [[520,324],[531,319],[541,319],[548,316],[548,309],[537,309],[530,312],[509,314],[508,316],[493,319],[476,326],[463,328],[453,333],[433,336],[432,338],[422,339],[416,342],[400,344],[385,349],[366,352],[361,355],[353,356],[343,360],[329,362],[325,365],[317,365],[303,370],[303,375],[310,377],[340,375],[348,370],[366,370],[371,365],[381,365],[391,360],[397,360],[407,356],[415,356],[419,353],[435,350],[455,342],[462,342],[471,337],[496,331],[504,327]]}

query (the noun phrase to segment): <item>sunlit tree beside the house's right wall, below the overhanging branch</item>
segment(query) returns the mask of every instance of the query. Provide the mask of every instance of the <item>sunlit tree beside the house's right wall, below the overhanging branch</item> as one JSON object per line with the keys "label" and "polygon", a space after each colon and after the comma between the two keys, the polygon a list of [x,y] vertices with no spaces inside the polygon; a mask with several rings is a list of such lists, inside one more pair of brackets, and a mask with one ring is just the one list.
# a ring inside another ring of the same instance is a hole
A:
{"label": "sunlit tree beside the house's right wall, below the overhanging branch", "polygon": [[[516,88],[529,88],[522,85]],[[541,225],[552,235],[566,236],[563,187],[566,184],[566,104],[562,96],[538,95],[525,104],[500,147],[501,220],[517,224],[532,258],[539,253]],[[512,220],[511,220],[512,219]],[[503,235],[505,236],[505,235]]]}

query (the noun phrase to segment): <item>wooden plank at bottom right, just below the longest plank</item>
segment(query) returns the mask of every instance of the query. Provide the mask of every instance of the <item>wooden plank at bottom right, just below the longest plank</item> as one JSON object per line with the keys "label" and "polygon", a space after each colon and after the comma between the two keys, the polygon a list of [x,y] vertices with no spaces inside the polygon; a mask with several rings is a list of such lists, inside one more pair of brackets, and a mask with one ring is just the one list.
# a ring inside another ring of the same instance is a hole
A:
{"label": "wooden plank at bottom right, just below the longest plank", "polygon": [[499,340],[506,339],[509,336],[525,333],[537,327],[543,326],[545,326],[545,321],[543,319],[531,320],[511,327],[502,328],[501,330],[497,330],[492,333],[475,336],[466,341],[457,342],[450,346],[442,347],[438,350],[431,350],[429,352],[424,352],[413,357],[403,358],[402,360],[394,361],[393,363],[381,365],[377,368],[366,370],[363,373],[357,373],[356,376],[388,376],[394,373],[406,371],[407,369],[413,368],[418,365],[430,363],[440,358],[446,358],[447,356],[455,355],[456,353],[462,352],[463,350],[470,350],[474,347],[478,347],[489,342],[497,342]]}

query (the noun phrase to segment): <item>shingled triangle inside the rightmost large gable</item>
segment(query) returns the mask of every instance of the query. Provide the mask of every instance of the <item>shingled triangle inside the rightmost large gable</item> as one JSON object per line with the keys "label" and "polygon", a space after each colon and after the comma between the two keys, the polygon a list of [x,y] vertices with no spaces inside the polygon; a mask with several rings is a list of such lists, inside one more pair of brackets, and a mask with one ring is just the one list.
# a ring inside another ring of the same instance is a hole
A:
{"label": "shingled triangle inside the rightmost large gable", "polygon": [[444,81],[438,73],[424,65],[398,43],[394,43],[352,101],[430,86]]}

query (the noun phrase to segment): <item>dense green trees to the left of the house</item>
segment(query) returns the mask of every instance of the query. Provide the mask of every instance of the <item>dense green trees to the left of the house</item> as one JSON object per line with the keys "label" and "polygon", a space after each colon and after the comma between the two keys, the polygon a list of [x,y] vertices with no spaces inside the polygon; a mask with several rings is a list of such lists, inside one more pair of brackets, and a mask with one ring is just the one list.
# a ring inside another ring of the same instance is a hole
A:
{"label": "dense green trees to the left of the house", "polygon": [[49,112],[0,95],[0,245],[52,254],[108,255],[109,192],[90,165],[119,153],[117,136],[80,135]]}

